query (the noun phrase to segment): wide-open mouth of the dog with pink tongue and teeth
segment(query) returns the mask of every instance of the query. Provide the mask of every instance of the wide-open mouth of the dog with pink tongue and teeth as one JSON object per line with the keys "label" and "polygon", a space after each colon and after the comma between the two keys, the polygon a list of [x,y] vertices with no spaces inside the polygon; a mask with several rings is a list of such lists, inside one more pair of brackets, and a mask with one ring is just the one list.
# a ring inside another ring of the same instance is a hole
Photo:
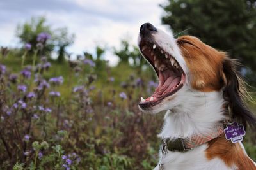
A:
{"label": "wide-open mouth of the dog with pink tongue and teeth", "polygon": [[147,99],[141,97],[140,105],[155,105],[182,88],[185,74],[179,62],[156,43],[141,42],[139,46],[141,53],[154,67],[159,78],[159,85],[154,94]]}

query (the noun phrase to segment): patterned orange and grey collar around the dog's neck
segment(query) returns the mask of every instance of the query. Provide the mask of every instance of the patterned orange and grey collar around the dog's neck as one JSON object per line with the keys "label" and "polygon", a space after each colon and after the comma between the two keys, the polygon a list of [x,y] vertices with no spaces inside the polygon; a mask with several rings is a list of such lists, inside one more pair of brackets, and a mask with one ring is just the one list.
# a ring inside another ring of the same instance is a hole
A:
{"label": "patterned orange and grey collar around the dog's neck", "polygon": [[162,152],[166,153],[167,151],[179,151],[186,152],[192,150],[196,146],[203,145],[211,141],[212,139],[217,138],[223,134],[223,124],[218,125],[214,131],[208,135],[204,136],[192,136],[191,138],[175,138],[175,139],[163,139]]}

